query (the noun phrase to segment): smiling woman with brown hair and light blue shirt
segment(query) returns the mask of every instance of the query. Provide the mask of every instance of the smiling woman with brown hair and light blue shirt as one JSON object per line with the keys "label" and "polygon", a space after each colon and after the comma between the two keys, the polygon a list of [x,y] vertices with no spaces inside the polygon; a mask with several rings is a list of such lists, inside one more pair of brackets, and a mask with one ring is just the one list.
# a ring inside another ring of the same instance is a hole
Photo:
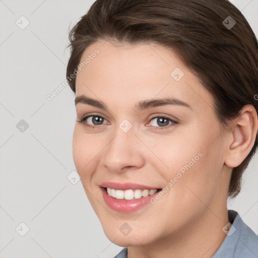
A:
{"label": "smiling woman with brown hair and light blue shirt", "polygon": [[258,45],[226,0],[98,0],[70,32],[74,161],[115,257],[258,257],[227,199],[257,148]]}

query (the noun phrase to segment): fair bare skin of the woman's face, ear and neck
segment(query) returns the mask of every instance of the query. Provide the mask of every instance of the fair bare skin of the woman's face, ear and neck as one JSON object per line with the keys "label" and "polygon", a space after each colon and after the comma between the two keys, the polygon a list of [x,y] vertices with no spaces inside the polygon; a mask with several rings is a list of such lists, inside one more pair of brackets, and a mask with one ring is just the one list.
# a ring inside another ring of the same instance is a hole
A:
{"label": "fair bare skin of the woman's face, ear and neck", "polygon": [[[99,54],[77,75],[76,97],[101,100],[108,109],[76,105],[77,119],[98,115],[105,120],[95,128],[76,121],[73,156],[106,236],[128,247],[129,258],[211,257],[226,237],[222,229],[229,222],[232,167],[244,160],[254,144],[254,107],[244,106],[230,130],[223,131],[212,95],[172,50],[153,43],[118,46],[99,41],[85,50],[81,61],[96,48]],[[170,75],[175,68],[184,73],[179,81]],[[184,101],[191,109],[164,105],[134,110],[140,101],[164,97]],[[157,122],[160,115],[178,123],[162,127]],[[133,125],[127,133],[119,128],[123,119]],[[94,124],[92,117],[87,121]],[[105,204],[101,182],[162,188],[200,152],[203,156],[155,204],[129,214]],[[119,230],[124,223],[132,228],[126,236]]]}

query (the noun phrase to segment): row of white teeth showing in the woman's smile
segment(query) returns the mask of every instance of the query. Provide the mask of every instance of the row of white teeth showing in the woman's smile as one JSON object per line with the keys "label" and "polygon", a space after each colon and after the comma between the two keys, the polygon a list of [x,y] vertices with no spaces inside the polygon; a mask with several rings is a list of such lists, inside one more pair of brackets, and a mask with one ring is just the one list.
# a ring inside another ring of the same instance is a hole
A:
{"label": "row of white teeth showing in the woman's smile", "polygon": [[104,188],[110,197],[113,197],[118,200],[127,200],[127,201],[148,197],[148,196],[154,195],[154,193],[162,190],[162,189],[119,190],[119,189],[113,189],[113,188],[109,188],[109,187],[104,187]]}

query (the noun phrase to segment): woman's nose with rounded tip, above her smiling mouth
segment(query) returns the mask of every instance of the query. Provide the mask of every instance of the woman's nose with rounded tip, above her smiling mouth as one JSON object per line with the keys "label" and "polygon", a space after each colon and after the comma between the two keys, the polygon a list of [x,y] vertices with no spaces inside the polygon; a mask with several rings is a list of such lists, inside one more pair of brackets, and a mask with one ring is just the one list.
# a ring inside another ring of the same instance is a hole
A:
{"label": "woman's nose with rounded tip, above her smiling mouth", "polygon": [[102,153],[102,165],[112,173],[141,168],[144,163],[143,143],[135,135],[133,128],[124,133],[120,128],[116,130],[113,139]]}

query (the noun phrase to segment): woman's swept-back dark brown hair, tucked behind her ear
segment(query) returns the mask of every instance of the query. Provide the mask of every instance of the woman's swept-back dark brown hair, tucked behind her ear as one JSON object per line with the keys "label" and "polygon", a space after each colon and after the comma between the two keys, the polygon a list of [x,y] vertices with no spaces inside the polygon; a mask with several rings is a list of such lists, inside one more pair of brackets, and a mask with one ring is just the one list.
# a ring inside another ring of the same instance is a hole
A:
{"label": "woman's swept-back dark brown hair, tucked behind her ear", "polygon": [[[231,18],[229,18],[230,16]],[[223,22],[224,21],[224,22]],[[227,24],[233,25],[226,27]],[[215,112],[225,127],[246,104],[258,105],[258,44],[242,13],[227,0],[97,0],[70,31],[72,77],[84,50],[94,42],[111,40],[135,44],[153,42],[175,51],[213,95]],[[228,197],[241,189],[242,173],[257,148],[255,143],[232,169]]]}

